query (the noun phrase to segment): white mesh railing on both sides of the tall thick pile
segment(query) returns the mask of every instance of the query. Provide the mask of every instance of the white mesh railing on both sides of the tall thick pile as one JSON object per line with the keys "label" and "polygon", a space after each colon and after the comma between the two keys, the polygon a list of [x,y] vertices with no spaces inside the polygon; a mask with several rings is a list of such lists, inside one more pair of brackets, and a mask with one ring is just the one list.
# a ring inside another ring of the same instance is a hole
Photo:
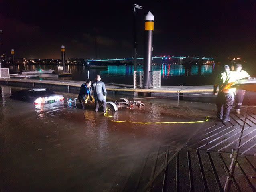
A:
{"label": "white mesh railing on both sides of the tall thick pile", "polygon": [[[152,71],[150,75],[150,86],[151,88],[160,88],[161,87],[161,71]],[[144,83],[144,72],[143,71],[134,71],[133,72],[133,87],[143,88]]]}

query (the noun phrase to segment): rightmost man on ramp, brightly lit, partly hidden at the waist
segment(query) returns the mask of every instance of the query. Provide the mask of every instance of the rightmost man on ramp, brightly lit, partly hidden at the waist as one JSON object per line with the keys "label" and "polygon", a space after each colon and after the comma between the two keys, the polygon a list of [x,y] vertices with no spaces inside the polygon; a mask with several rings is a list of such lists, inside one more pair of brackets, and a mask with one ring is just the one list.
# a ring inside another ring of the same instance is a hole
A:
{"label": "rightmost man on ramp, brightly lit, partly hidden at the waist", "polygon": [[[236,73],[237,73],[238,79],[251,78],[251,76],[246,71],[242,70],[242,65],[240,63],[236,64]],[[236,90],[235,111],[237,114],[240,114],[240,107],[244,100],[244,94],[245,94],[245,90],[240,90],[240,89]]]}

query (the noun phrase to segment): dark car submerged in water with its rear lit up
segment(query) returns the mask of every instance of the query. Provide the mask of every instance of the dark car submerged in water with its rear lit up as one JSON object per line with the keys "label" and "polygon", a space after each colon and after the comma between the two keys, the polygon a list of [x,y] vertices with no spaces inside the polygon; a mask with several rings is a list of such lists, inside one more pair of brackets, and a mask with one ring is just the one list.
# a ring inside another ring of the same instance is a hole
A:
{"label": "dark car submerged in water with its rear lit up", "polygon": [[33,102],[35,105],[55,103],[64,100],[63,95],[56,94],[54,91],[46,88],[22,89],[13,93],[11,98],[20,101]]}

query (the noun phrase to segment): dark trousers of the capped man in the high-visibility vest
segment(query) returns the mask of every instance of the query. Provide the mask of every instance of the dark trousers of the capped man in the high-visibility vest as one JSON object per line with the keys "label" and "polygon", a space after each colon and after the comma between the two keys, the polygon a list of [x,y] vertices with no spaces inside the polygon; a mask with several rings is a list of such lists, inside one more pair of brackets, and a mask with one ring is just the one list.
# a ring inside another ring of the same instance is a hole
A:
{"label": "dark trousers of the capped man in the high-visibility vest", "polygon": [[229,118],[230,110],[232,109],[234,103],[234,94],[233,93],[223,93],[220,92],[217,96],[217,108],[218,108],[218,117],[222,117],[223,120]]}

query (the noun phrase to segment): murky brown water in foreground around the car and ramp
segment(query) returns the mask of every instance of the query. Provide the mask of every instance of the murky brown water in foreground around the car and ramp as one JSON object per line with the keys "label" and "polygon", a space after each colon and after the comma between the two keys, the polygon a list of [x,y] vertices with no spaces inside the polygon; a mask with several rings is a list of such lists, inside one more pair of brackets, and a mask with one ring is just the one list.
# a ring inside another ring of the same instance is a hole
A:
{"label": "murky brown water in foreground around the car and ramp", "polygon": [[[114,123],[103,112],[95,113],[93,105],[82,110],[78,101],[77,107],[67,107],[65,101],[36,107],[10,99],[11,93],[21,88],[0,88],[1,191],[109,190],[117,173],[125,175],[134,162],[159,146],[171,143],[175,151],[203,126]],[[65,99],[77,97],[63,95]],[[108,94],[107,99],[114,96]],[[118,110],[113,118],[197,121],[215,115],[214,104],[143,101],[143,109]]]}

